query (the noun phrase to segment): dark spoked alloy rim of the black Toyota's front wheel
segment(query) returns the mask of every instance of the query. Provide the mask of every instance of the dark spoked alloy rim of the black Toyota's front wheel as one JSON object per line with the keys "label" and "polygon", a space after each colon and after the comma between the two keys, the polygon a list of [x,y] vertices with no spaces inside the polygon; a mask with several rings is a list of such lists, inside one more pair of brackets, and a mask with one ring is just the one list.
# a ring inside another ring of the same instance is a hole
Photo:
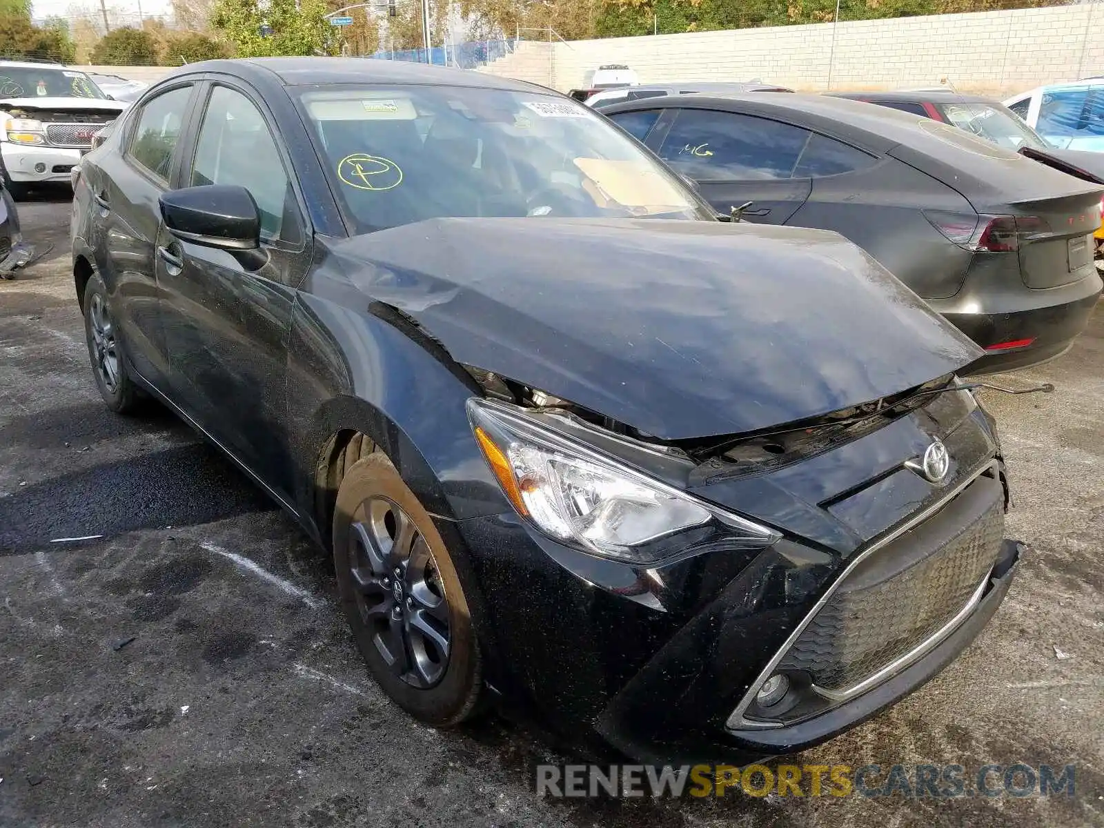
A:
{"label": "dark spoked alloy rim of the black Toyota's front wheel", "polygon": [[414,519],[383,497],[365,500],[349,532],[349,567],[361,619],[388,667],[431,688],[448,667],[448,602]]}

